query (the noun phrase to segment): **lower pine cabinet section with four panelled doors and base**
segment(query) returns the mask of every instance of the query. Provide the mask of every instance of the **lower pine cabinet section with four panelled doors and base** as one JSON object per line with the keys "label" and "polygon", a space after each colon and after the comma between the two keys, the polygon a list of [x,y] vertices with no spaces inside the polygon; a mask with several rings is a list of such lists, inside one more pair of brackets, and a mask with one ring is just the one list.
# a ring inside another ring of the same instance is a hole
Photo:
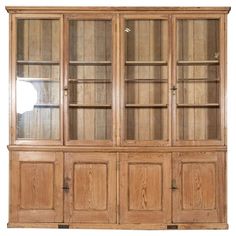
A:
{"label": "lower pine cabinet section with four panelled doors and base", "polygon": [[9,226],[226,228],[224,152],[11,152]]}

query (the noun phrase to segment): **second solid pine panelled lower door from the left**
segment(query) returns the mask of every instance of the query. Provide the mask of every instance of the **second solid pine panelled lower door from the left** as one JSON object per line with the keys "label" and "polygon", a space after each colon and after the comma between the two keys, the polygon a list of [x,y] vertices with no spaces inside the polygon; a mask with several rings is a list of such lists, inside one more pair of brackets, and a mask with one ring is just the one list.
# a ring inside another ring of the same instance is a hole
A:
{"label": "second solid pine panelled lower door from the left", "polygon": [[65,155],[65,222],[116,222],[116,154]]}

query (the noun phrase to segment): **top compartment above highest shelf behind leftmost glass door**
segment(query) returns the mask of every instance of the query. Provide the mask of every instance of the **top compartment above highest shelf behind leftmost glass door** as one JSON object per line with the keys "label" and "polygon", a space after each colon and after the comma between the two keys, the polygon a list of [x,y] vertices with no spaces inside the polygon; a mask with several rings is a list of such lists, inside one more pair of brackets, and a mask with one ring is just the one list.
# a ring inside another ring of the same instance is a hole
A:
{"label": "top compartment above highest shelf behind leftmost glass door", "polygon": [[59,20],[17,20],[17,60],[57,62],[59,33]]}

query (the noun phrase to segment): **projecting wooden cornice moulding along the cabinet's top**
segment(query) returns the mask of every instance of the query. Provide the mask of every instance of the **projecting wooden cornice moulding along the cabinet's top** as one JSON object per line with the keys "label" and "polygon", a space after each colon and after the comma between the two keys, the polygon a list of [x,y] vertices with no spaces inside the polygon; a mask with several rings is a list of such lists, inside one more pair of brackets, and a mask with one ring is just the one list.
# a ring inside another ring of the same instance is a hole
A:
{"label": "projecting wooden cornice moulding along the cabinet's top", "polygon": [[51,13],[67,13],[75,11],[161,11],[161,12],[221,12],[229,13],[231,7],[55,7],[55,6],[6,6],[9,13],[31,13],[31,12],[51,12]]}

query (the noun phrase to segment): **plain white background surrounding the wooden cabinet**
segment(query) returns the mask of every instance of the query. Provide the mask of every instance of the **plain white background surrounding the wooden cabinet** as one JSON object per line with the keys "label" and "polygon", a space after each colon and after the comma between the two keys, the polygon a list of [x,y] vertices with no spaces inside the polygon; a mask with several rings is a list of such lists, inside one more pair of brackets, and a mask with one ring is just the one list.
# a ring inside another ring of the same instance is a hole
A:
{"label": "plain white background surrounding the wooden cabinet", "polygon": [[[7,229],[8,222],[8,14],[5,6],[231,6],[228,18],[228,223],[218,231]],[[236,234],[236,1],[235,0],[0,0],[0,236]]]}

